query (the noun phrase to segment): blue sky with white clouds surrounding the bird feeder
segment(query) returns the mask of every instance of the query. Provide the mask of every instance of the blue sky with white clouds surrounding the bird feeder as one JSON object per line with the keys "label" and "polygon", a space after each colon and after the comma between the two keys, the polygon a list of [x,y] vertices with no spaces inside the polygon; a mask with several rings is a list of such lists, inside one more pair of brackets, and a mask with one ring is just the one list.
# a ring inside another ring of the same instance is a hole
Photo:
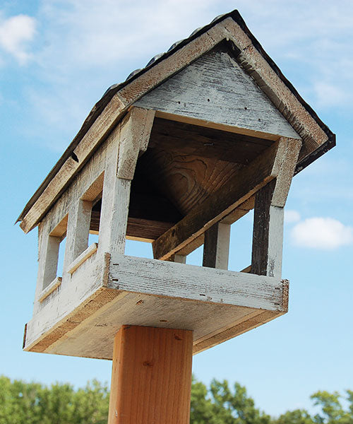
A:
{"label": "blue sky with white clouds surrounding the bird feeder", "polygon": [[[277,415],[318,389],[353,389],[353,3],[351,1],[47,0],[0,3],[0,374],[78,386],[109,382],[108,361],[21,351],[32,317],[37,231],[18,214],[104,91],[173,42],[238,8],[337,147],[294,178],[284,268],[289,312],[194,357],[196,377],[244,384]],[[232,228],[230,268],[249,265],[251,215]],[[129,254],[150,254],[128,245]],[[200,261],[200,252],[189,258]]]}

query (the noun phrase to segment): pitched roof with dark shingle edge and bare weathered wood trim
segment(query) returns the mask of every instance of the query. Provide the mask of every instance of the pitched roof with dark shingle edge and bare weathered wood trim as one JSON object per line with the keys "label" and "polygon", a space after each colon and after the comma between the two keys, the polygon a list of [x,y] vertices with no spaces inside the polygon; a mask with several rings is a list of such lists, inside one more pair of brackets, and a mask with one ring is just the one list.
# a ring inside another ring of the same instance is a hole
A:
{"label": "pitched roof with dark shingle edge and bare weathered wood trim", "polygon": [[[97,139],[96,144],[92,145],[92,151],[94,151],[97,143],[104,141],[116,122],[119,122],[121,117],[126,114],[128,107],[150,90],[159,86],[160,83],[166,81],[167,78],[184,69],[193,60],[201,57],[202,54],[208,52],[222,40],[227,40],[232,45],[244,69],[255,79],[258,86],[268,95],[268,98],[280,110],[301,138],[304,141],[307,139],[307,146],[299,158],[296,172],[299,172],[335,146],[335,134],[318,118],[316,112],[301,98],[297,90],[285,78],[274,61],[261,47],[258,40],[252,35],[249,28],[247,28],[239,12],[232,11],[218,16],[209,25],[198,28],[185,40],[174,43],[167,52],[153,57],[143,69],[133,71],[123,83],[111,86],[92,108],[80,131],[78,131],[78,134],[49,172],[49,175],[44,179],[44,182],[28,201],[16,222],[25,218],[30,208],[40,198],[49,183],[68,160],[74,160],[78,163],[75,172],[78,172],[86,163],[88,155],[78,158],[75,149],[81,141],[86,139],[89,142],[92,139],[90,132],[97,131],[99,133],[99,137],[95,137]],[[234,40],[239,41],[237,45],[235,45]],[[254,58],[253,63],[251,63],[252,57]],[[259,59],[262,61],[260,65],[258,64]],[[274,81],[274,78],[277,82],[280,82],[281,86],[277,92],[274,90],[275,83],[271,86],[271,81]],[[285,90],[289,93],[287,97],[282,94]],[[284,96],[283,98],[282,95]],[[73,175],[71,175],[71,179]],[[67,184],[69,182],[68,180]],[[64,189],[65,187],[61,189],[61,192],[57,193],[52,203]],[[37,223],[41,218],[38,217]]]}

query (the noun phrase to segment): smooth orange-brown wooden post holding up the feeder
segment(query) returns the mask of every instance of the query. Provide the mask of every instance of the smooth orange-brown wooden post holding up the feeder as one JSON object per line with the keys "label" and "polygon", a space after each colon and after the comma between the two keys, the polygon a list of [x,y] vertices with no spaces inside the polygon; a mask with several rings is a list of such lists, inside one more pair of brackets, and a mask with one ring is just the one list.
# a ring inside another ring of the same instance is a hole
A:
{"label": "smooth orange-brown wooden post holding up the feeder", "polygon": [[108,424],[189,424],[193,332],[121,326]]}

